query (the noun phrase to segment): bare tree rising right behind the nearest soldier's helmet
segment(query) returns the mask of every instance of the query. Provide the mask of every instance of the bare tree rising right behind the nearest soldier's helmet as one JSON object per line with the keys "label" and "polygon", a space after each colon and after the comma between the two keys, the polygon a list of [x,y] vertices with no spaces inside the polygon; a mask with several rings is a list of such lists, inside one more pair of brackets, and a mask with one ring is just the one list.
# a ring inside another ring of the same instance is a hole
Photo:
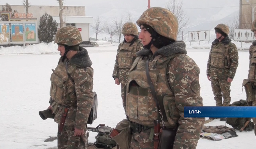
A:
{"label": "bare tree rising right behind the nearest soldier's helmet", "polygon": [[165,8],[170,10],[178,20],[178,35],[177,38],[182,36],[182,30],[188,25],[189,19],[182,10],[183,2],[179,0],[169,0]]}

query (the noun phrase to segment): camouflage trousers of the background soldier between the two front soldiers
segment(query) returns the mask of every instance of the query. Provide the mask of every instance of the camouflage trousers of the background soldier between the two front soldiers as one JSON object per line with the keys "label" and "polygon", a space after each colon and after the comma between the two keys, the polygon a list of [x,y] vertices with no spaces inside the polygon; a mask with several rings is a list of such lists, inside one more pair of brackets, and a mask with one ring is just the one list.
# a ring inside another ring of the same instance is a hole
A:
{"label": "camouflage trousers of the background soldier between the two front soldiers", "polygon": [[128,81],[129,70],[130,70],[130,68],[125,68],[125,69],[119,70],[119,82],[121,84],[121,97],[122,97],[124,111],[125,111],[124,94],[126,94],[126,92],[124,93],[124,90],[125,90],[124,88],[126,88],[126,84]]}

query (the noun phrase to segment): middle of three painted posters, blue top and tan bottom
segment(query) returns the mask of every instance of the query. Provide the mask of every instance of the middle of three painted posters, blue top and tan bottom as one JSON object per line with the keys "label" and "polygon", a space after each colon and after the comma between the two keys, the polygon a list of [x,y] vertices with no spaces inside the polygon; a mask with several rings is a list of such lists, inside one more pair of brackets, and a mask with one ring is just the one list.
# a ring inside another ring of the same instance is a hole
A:
{"label": "middle of three painted posters, blue top and tan bottom", "polygon": [[11,23],[11,39],[12,42],[23,41],[23,24]]}

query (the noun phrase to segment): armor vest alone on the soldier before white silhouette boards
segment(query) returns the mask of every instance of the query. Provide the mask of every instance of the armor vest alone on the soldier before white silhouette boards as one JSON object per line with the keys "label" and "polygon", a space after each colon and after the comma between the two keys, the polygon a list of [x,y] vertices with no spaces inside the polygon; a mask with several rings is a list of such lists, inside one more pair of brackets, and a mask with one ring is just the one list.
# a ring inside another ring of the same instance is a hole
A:
{"label": "armor vest alone on the soldier before white silhouette boards", "polygon": [[228,47],[233,44],[229,43],[227,45],[223,43],[218,43],[212,47],[211,54],[211,66],[215,68],[229,68],[230,67],[230,57],[228,53]]}

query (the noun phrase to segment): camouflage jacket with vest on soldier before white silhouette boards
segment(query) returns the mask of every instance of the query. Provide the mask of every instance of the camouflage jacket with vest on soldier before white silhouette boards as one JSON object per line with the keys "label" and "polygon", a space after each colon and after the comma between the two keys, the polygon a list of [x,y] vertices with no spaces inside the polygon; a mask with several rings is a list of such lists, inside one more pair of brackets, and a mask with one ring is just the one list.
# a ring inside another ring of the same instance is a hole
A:
{"label": "camouflage jacket with vest on soldier before white silhouette boards", "polygon": [[234,78],[238,66],[238,51],[229,37],[214,40],[209,53],[206,74],[213,79]]}

